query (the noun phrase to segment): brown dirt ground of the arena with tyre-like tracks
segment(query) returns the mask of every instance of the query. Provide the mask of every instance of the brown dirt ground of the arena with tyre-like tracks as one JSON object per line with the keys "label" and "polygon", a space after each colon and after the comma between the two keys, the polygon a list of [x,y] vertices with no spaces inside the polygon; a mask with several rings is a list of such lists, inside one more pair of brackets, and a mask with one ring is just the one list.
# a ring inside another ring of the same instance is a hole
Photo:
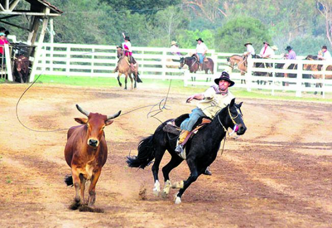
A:
{"label": "brown dirt ground of the arena with tyre-like tracks", "polygon": [[[74,189],[63,182],[70,173],[63,156],[66,131],[32,132],[17,121],[15,104],[24,88],[0,85],[0,227],[332,226],[332,104],[238,98],[247,132],[226,142],[211,165],[213,175],[200,176],[181,205],[174,205],[176,190],[167,199],[152,194],[150,167],[137,170],[125,163],[158,120],[146,117],[149,109],[120,116],[105,130],[109,157],[96,187],[96,207],[105,213],[90,213],[67,209]],[[82,117],[76,103],[113,114],[156,104],[166,92],[36,86],[18,111],[31,128],[54,130],[76,125],[73,118]],[[189,112],[195,103],[185,104],[186,97],[171,91],[171,110],[158,118]],[[162,166],[168,160],[167,154]],[[183,162],[170,177],[180,181],[188,175]],[[159,177],[163,180],[161,172]]]}

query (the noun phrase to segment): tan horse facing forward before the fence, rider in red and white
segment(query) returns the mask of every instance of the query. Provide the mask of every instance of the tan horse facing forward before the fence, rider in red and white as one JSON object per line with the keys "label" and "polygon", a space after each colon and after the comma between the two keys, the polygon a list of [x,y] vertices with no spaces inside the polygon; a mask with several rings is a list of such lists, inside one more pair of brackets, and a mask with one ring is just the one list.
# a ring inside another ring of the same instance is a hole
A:
{"label": "tan horse facing forward before the fence, rider in red and white", "polygon": [[[118,61],[118,64],[117,64],[117,66],[116,66],[116,68],[115,68],[115,70],[113,72],[118,71],[118,77],[117,77],[117,79],[118,79],[120,87],[122,86],[122,84],[120,82],[120,75],[124,74],[125,75],[125,80],[124,80],[125,86],[124,86],[124,89],[127,89],[127,78],[128,78],[128,76],[129,76],[130,81],[132,83],[132,89],[136,88],[137,87],[136,86],[136,82],[142,82],[142,80],[138,76],[138,74],[139,74],[138,73],[138,63],[136,63],[134,65],[135,70],[132,71],[129,62],[127,61],[127,58],[124,56],[124,52],[123,52],[122,47],[118,46],[117,49],[116,49],[116,52],[117,52],[117,57],[119,58],[119,61]],[[133,77],[132,77],[132,74],[134,74],[135,86],[133,86]]]}

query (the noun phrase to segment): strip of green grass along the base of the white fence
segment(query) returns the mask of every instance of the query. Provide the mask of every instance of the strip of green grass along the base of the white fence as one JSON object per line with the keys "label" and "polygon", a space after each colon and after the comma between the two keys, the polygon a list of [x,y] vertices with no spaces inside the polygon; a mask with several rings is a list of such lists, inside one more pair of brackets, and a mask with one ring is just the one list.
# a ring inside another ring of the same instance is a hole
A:
{"label": "strip of green grass along the base of the white fence", "polygon": [[[124,83],[124,77],[122,77],[121,82]],[[169,80],[154,80],[154,79],[142,79],[143,83],[138,84],[138,88],[144,87],[155,87],[155,88],[168,88]],[[5,83],[3,79],[0,83]],[[71,85],[71,86],[88,86],[88,87],[118,87],[118,82],[114,78],[103,78],[103,77],[67,77],[67,76],[55,76],[55,75],[40,75],[40,78],[36,82],[36,86],[41,84],[50,85]],[[130,87],[130,82],[129,82]],[[206,86],[196,86],[196,87],[184,87],[182,80],[172,80],[171,81],[171,92],[175,93],[199,93],[206,89]],[[248,97],[248,98],[267,98],[267,99],[285,99],[285,100],[301,100],[308,102],[332,102],[332,93],[325,95],[325,99],[321,95],[314,95],[311,93],[303,93],[302,97],[295,97],[295,92],[282,92],[275,91],[275,96],[271,95],[270,90],[252,90],[248,92],[243,88],[231,88],[232,93],[237,97]]]}

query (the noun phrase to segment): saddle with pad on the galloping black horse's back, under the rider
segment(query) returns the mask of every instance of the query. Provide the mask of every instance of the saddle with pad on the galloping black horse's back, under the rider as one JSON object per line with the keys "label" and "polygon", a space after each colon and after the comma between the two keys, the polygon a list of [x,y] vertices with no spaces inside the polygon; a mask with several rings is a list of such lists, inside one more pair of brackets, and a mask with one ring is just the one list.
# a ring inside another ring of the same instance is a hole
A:
{"label": "saddle with pad on the galloping black horse's back, under the rider", "polygon": [[[189,114],[183,114],[183,115],[177,117],[176,119],[171,119],[164,126],[163,131],[167,132],[167,133],[171,133],[173,135],[180,135],[180,132],[181,132],[180,125],[187,118],[189,118]],[[197,122],[195,123],[193,130],[186,137],[183,144],[185,144],[189,139],[191,139],[198,132],[198,130],[202,129],[204,126],[211,123],[211,121],[212,121],[212,119],[207,116],[200,117],[197,120]]]}

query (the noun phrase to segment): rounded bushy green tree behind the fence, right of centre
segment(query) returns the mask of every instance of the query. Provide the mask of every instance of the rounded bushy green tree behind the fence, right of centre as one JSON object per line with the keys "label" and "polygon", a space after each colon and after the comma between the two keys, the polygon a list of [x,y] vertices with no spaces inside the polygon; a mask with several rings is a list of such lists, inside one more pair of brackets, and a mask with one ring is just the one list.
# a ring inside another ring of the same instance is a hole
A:
{"label": "rounded bushy green tree behind the fence, right of centre", "polygon": [[254,47],[262,46],[263,41],[271,42],[271,36],[266,26],[252,17],[236,17],[228,20],[218,30],[216,46],[220,52],[241,53],[245,42],[251,42]]}

